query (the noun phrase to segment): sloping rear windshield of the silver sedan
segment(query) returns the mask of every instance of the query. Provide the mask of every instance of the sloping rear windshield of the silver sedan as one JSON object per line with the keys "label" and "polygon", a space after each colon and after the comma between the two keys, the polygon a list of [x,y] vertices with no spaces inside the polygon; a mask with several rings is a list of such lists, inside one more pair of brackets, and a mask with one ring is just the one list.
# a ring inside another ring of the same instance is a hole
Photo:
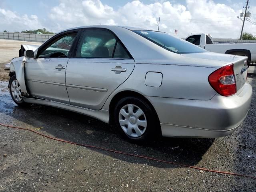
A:
{"label": "sloping rear windshield of the silver sedan", "polygon": [[160,47],[174,53],[202,53],[206,50],[190,43],[181,38],[176,38],[164,32],[148,31],[148,30],[133,30],[136,34],[152,41]]}

